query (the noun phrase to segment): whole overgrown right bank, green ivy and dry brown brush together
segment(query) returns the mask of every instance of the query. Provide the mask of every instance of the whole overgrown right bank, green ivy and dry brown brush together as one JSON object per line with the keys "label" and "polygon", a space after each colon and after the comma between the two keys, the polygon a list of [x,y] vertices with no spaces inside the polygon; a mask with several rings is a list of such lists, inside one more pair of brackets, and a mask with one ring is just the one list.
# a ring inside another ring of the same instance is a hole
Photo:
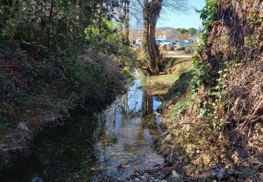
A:
{"label": "whole overgrown right bank, green ivy and dry brown brush together", "polygon": [[[163,106],[167,132],[162,151],[167,160],[183,158],[182,174],[193,179],[207,178],[214,167],[234,181],[255,181],[262,174],[262,155],[255,155],[262,153],[256,142],[262,139],[262,105],[257,104],[262,89],[252,91],[262,85],[262,71],[257,72],[262,65],[262,15],[256,6],[249,7],[252,13],[220,0],[207,1],[189,89],[181,95],[175,87]],[[231,10],[233,15],[226,18]],[[240,22],[234,20],[236,12]],[[219,176],[213,179],[220,181]]]}

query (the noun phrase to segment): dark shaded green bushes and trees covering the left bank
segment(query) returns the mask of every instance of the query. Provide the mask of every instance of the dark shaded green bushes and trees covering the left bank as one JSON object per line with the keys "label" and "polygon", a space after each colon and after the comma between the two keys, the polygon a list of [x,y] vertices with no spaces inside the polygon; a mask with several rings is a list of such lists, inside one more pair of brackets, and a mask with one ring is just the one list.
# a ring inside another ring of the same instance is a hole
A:
{"label": "dark shaded green bushes and trees covering the left bank", "polygon": [[123,89],[136,57],[119,31],[122,22],[111,20],[117,6],[110,0],[0,2],[1,151],[22,148],[23,134],[6,137],[19,123],[26,123],[22,132],[34,133],[39,123],[63,123],[77,104],[98,104]]}

